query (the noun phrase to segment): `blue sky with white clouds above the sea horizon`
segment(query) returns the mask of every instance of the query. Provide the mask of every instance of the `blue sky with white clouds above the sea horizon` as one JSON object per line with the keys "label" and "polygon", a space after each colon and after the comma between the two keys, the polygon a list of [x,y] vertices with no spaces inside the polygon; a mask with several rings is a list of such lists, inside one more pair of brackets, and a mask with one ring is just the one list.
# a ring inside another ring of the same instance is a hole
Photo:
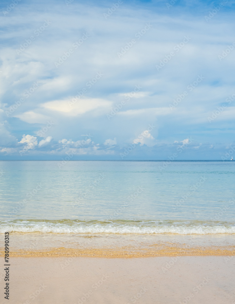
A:
{"label": "blue sky with white clouds above the sea horizon", "polygon": [[1,1],[0,160],[235,157],[234,10]]}

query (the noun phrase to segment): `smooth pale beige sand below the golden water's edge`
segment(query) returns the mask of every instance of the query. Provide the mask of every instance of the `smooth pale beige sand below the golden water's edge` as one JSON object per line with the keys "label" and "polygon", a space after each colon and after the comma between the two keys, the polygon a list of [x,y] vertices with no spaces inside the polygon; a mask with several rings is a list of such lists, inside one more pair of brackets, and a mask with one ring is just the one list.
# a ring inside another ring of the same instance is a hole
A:
{"label": "smooth pale beige sand below the golden water's edge", "polygon": [[10,299],[1,297],[8,304],[235,304],[234,265],[234,256],[11,257]]}

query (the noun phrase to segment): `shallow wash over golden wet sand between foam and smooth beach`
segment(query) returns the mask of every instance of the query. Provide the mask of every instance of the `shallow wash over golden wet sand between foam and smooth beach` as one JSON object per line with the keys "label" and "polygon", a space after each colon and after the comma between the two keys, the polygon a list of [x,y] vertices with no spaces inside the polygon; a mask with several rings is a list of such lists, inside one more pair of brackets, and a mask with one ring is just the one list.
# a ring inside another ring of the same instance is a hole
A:
{"label": "shallow wash over golden wet sand between foam and smooth beach", "polygon": [[[1,250],[1,254],[4,252]],[[235,255],[234,235],[11,233],[11,257]]]}

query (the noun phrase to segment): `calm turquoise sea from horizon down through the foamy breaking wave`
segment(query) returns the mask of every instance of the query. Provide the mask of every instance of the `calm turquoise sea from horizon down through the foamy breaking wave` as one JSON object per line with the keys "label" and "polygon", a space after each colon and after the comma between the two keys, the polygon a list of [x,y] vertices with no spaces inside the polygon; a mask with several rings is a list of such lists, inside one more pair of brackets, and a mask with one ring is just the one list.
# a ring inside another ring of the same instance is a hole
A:
{"label": "calm turquoise sea from horizon down through the foamy breaking wave", "polygon": [[0,161],[0,172],[2,231],[235,233],[232,161]]}

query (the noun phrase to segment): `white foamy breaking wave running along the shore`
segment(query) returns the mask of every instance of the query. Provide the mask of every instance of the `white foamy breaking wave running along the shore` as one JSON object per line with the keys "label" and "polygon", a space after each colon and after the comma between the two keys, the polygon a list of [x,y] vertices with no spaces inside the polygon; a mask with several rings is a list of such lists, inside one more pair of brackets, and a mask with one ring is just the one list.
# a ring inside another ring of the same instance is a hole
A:
{"label": "white foamy breaking wave running along the shore", "polygon": [[235,233],[235,226],[225,225],[202,225],[202,224],[181,224],[161,225],[156,223],[93,223],[91,222],[73,222],[61,223],[56,221],[12,221],[12,223],[1,222],[0,233],[8,232],[40,232],[40,233],[136,233],[136,234],[218,234]]}

